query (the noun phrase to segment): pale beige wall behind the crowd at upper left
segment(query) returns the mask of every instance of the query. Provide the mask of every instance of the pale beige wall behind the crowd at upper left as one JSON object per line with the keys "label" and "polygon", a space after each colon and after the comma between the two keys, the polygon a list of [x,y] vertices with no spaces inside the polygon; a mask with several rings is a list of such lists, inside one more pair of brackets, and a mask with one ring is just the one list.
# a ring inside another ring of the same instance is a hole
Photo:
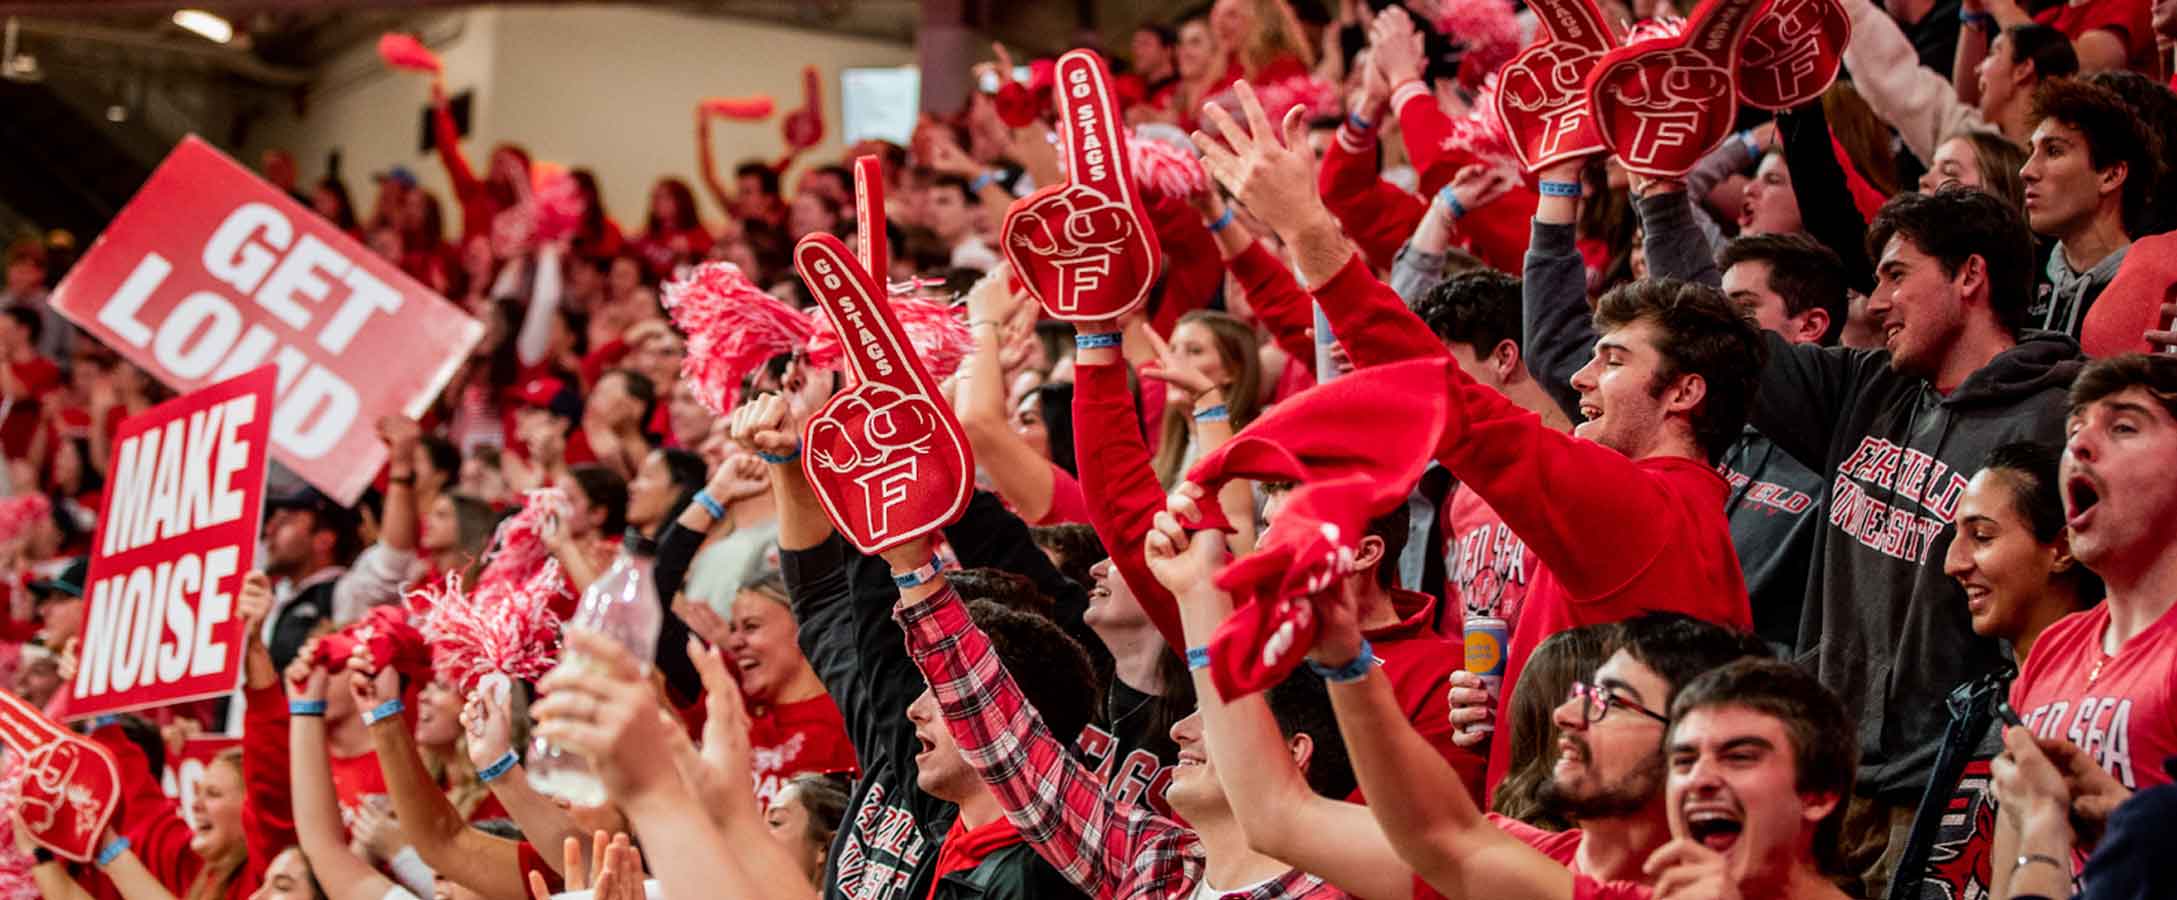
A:
{"label": "pale beige wall behind the crowd at upper left", "polygon": [[[588,166],[607,209],[629,231],[640,229],[651,183],[664,174],[688,179],[708,220],[723,216],[697,183],[694,105],[705,96],[771,94],[784,113],[801,105],[801,65],[816,65],[827,142],[803,161],[836,161],[845,153],[838,72],[914,61],[906,44],[664,9],[507,7],[459,13],[459,39],[435,50],[446,61],[448,94],[475,92],[464,144],[470,163],[481,170],[490,148],[512,139],[538,159]],[[340,146],[357,205],[374,196],[370,172],[392,163],[409,166],[440,200],[451,200],[435,155],[414,153],[416,118],[429,98],[422,76],[385,72],[364,46],[327,68],[320,81],[324,87],[309,96],[307,115],[261,124],[244,159],[255,159],[263,146],[287,146],[303,161],[305,179],[316,179],[313,166],[324,150]],[[712,137],[727,179],[745,157],[784,153],[777,118],[714,122]],[[448,231],[457,229],[453,205],[446,216]]]}

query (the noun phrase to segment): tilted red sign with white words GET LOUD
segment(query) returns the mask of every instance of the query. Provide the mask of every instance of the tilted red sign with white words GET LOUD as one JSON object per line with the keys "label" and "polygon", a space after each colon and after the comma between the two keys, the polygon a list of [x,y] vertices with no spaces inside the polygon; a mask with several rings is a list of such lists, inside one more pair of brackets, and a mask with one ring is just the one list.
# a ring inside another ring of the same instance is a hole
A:
{"label": "tilted red sign with white words GET LOUD", "polygon": [[377,421],[422,416],[483,336],[196,137],[159,163],[52,305],[179,392],[279,366],[272,453],[340,503],[385,464]]}

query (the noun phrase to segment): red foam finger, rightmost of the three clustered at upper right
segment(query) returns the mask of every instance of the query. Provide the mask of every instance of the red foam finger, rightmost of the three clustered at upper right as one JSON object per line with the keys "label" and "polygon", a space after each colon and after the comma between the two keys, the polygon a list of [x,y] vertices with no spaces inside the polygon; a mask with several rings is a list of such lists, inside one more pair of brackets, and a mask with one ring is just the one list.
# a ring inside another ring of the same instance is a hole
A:
{"label": "red foam finger, rightmost of the three clustered at upper right", "polygon": [[1792,109],[1837,81],[1853,17],[1837,0],[1776,0],[1739,46],[1739,102]]}

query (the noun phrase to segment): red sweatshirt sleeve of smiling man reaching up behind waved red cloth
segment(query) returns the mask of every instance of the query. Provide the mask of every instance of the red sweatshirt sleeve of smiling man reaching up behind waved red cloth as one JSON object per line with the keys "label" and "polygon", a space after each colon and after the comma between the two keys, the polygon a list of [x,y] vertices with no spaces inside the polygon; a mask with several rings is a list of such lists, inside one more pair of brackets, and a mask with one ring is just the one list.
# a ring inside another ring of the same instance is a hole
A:
{"label": "red sweatshirt sleeve of smiling man reaching up behind waved red cloth", "polygon": [[[1345,344],[1354,364],[1417,355],[1363,357],[1365,349],[1385,346],[1382,336],[1400,329],[1398,318],[1443,355],[1443,344],[1358,257],[1315,294],[1324,309],[1335,309],[1330,323],[1341,336],[1352,329],[1376,338]],[[1624,453],[1541,425],[1541,416],[1450,368],[1452,410],[1437,460],[1504,516],[1574,599],[1618,591],[1663,554],[1678,532],[1650,523],[1657,510],[1676,503],[1652,473]],[[1537,497],[1548,503],[1535,503]]]}

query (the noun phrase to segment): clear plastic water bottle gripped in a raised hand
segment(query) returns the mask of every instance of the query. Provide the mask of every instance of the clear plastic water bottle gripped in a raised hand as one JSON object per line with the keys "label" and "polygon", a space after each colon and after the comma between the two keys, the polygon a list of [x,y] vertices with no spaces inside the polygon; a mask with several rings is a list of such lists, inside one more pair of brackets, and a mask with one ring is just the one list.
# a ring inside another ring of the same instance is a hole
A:
{"label": "clear plastic water bottle gripped in a raised hand", "polygon": [[[642,665],[644,678],[651,671],[651,658],[657,654],[657,625],[664,617],[657,604],[657,575],[651,571],[655,554],[657,547],[651,540],[629,534],[620,543],[620,556],[612,560],[612,569],[599,575],[590,584],[590,591],[583,591],[581,606],[575,608],[575,619],[566,623],[568,630],[594,632],[618,641]],[[575,652],[559,658],[559,669],[588,665],[592,665],[590,658]],[[538,789],[538,793],[577,806],[605,804],[605,782],[596,778],[590,761],[573,750],[536,739],[525,767],[529,769],[529,787]]]}

